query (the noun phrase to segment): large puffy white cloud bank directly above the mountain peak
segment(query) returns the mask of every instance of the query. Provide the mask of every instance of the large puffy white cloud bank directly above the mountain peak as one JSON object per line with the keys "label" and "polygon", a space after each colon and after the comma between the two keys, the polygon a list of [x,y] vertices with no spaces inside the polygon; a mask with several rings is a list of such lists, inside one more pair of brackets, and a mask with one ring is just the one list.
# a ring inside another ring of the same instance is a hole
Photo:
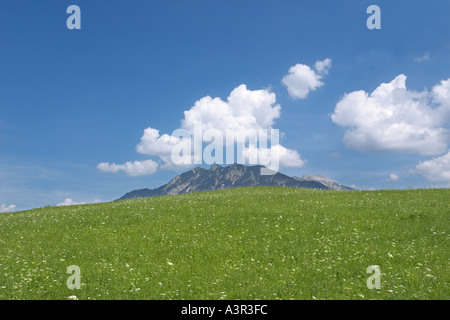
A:
{"label": "large puffy white cloud bank directly above the mountain peak", "polygon": [[[326,63],[319,68],[325,70]],[[104,162],[98,164],[97,169],[101,172],[123,171],[130,176],[137,176],[153,174],[158,168],[175,170],[185,168],[194,163],[194,148],[191,146],[195,143],[196,135],[200,134],[200,143],[209,142],[203,133],[210,130],[222,136],[226,144],[234,144],[240,137],[250,137],[258,130],[272,129],[275,120],[280,117],[280,111],[281,106],[276,103],[275,93],[266,89],[249,90],[245,84],[241,84],[231,91],[226,100],[210,96],[197,100],[189,110],[184,111],[181,128],[175,130],[172,135],[160,134],[159,130],[152,127],[146,128],[136,146],[136,151],[157,156],[158,162],[153,160],[125,164]],[[183,134],[177,135],[176,132]],[[233,134],[232,141],[226,139],[230,132]],[[175,147],[180,149],[180,146],[192,150],[192,153],[183,154],[179,162],[174,162],[172,150]],[[303,165],[304,162],[297,151],[282,146],[276,148],[280,154],[281,165]]]}

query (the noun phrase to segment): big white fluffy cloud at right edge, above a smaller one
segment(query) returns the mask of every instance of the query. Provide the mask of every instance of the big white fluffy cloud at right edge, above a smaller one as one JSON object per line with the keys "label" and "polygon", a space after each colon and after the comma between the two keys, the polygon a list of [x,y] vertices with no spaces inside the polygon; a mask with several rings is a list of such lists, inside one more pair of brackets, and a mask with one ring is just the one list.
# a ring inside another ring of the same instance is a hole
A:
{"label": "big white fluffy cloud at right edge, above a smaller one", "polygon": [[372,93],[344,95],[331,119],[347,128],[344,143],[356,150],[442,154],[450,141],[445,127],[450,115],[449,80],[431,93],[415,92],[406,88],[406,76],[400,74]]}

